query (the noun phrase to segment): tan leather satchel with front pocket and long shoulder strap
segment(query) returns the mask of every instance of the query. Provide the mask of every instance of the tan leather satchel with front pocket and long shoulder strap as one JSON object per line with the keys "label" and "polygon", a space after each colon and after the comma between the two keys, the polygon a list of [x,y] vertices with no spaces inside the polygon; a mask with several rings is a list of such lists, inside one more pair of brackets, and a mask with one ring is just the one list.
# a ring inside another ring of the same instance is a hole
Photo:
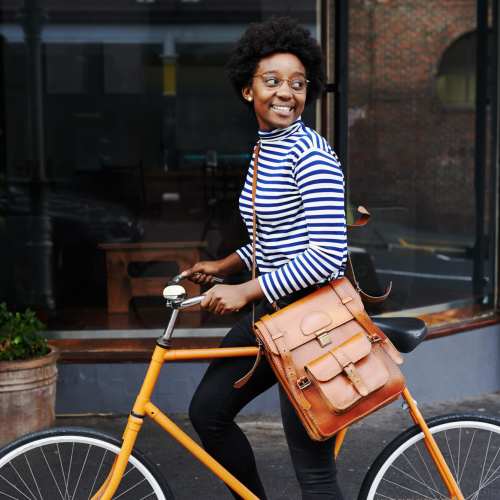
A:
{"label": "tan leather satchel with front pocket and long shoulder strap", "polygon": [[[257,146],[254,278],[258,152]],[[357,282],[356,287],[345,277],[336,279],[254,325],[269,364],[314,440],[328,439],[395,400],[405,388],[398,367],[403,359],[366,314]]]}

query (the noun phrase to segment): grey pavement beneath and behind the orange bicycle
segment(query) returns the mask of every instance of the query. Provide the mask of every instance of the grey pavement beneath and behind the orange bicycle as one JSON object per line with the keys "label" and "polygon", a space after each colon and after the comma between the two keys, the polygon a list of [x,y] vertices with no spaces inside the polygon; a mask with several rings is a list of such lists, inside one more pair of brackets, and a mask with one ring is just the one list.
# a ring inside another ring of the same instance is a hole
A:
{"label": "grey pavement beneath and behind the orange bicycle", "polygon": [[[484,394],[454,402],[419,405],[424,417],[457,412],[478,412],[500,417],[500,393]],[[171,416],[195,437],[186,415]],[[59,426],[85,426],[120,436],[126,416],[75,415],[58,417]],[[294,476],[279,417],[245,416],[238,419],[252,443],[262,480],[270,500],[298,500]],[[412,426],[400,403],[379,410],[348,431],[338,458],[338,478],[345,500],[355,500],[363,477],[375,457],[398,433]],[[146,421],[139,435],[138,448],[158,465],[176,499],[230,499],[222,482],[205,469],[156,424]]]}

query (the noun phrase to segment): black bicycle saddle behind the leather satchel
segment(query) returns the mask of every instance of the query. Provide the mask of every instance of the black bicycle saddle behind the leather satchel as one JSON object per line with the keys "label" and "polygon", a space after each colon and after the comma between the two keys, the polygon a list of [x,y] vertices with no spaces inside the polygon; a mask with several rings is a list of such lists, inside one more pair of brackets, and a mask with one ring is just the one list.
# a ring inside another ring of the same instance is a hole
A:
{"label": "black bicycle saddle behind the leather satchel", "polygon": [[427,335],[427,326],[418,318],[377,318],[372,321],[400,352],[411,352]]}

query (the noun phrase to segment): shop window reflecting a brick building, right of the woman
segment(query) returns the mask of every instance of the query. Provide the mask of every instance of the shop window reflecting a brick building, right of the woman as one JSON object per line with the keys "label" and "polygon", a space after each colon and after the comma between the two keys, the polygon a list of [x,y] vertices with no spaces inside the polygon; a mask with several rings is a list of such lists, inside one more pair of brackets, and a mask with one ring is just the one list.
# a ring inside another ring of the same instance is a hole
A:
{"label": "shop window reflecting a brick building, right of the woman", "polygon": [[[393,282],[378,312],[404,311],[431,325],[489,313],[492,102],[475,105],[476,38],[466,42],[476,33],[476,2],[353,1],[349,9],[350,203],[373,215],[351,234],[362,280],[373,293]],[[464,50],[467,58],[457,58]],[[488,62],[478,64],[484,71]],[[443,105],[459,98],[460,109]],[[482,131],[478,120],[487,124]]]}

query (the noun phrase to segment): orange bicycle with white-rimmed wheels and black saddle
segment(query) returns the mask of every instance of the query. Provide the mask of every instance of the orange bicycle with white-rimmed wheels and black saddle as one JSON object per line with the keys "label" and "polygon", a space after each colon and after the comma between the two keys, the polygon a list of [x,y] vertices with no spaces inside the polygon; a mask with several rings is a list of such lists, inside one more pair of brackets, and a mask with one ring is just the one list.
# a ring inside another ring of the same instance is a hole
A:
{"label": "orange bicycle with white-rimmed wheels and black saddle", "polygon": [[[179,282],[177,276],[174,281]],[[24,436],[0,451],[0,497],[63,500],[131,498],[172,499],[158,468],[134,448],[146,417],[176,439],[224,483],[245,499],[257,497],[216,462],[151,402],[167,361],[256,356],[258,347],[171,349],[179,311],[199,304],[178,284],[164,290],[172,315],[157,339],[151,363],[136,398],[122,440],[85,428],[53,428]],[[426,327],[415,318],[375,318],[396,347],[410,352]],[[369,468],[360,499],[500,498],[500,419],[456,414],[426,422],[408,389],[402,397],[415,425],[389,443]],[[338,456],[345,432],[336,439]],[[499,459],[499,464],[496,461]],[[487,496],[485,496],[487,495]]]}

